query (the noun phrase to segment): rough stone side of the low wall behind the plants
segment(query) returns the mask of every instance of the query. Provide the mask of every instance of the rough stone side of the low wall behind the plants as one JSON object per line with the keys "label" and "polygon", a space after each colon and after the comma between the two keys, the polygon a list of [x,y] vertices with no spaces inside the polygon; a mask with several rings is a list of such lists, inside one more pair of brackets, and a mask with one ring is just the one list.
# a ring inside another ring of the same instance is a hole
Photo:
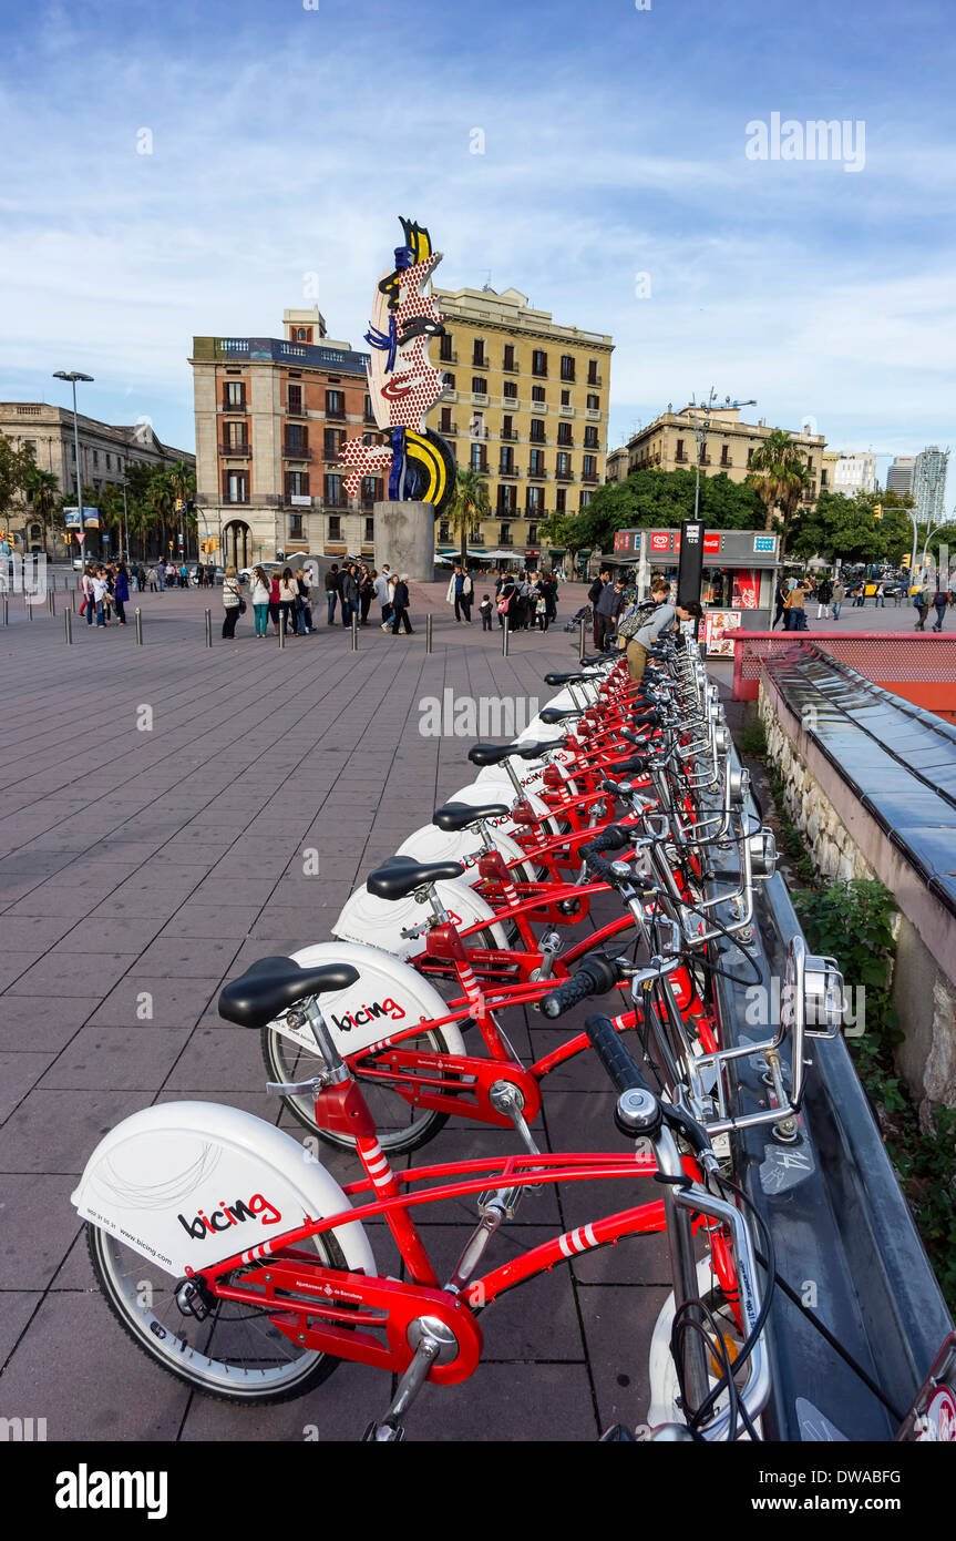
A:
{"label": "rough stone side of the low wall behind the plants", "polygon": [[[793,824],[807,835],[817,878],[879,878],[899,906],[893,999],[904,1031],[901,1074],[919,1103],[956,1106],[956,945],[950,912],[885,837],[799,721],[760,684],[767,754],[784,781]],[[847,985],[854,985],[847,980]]]}

